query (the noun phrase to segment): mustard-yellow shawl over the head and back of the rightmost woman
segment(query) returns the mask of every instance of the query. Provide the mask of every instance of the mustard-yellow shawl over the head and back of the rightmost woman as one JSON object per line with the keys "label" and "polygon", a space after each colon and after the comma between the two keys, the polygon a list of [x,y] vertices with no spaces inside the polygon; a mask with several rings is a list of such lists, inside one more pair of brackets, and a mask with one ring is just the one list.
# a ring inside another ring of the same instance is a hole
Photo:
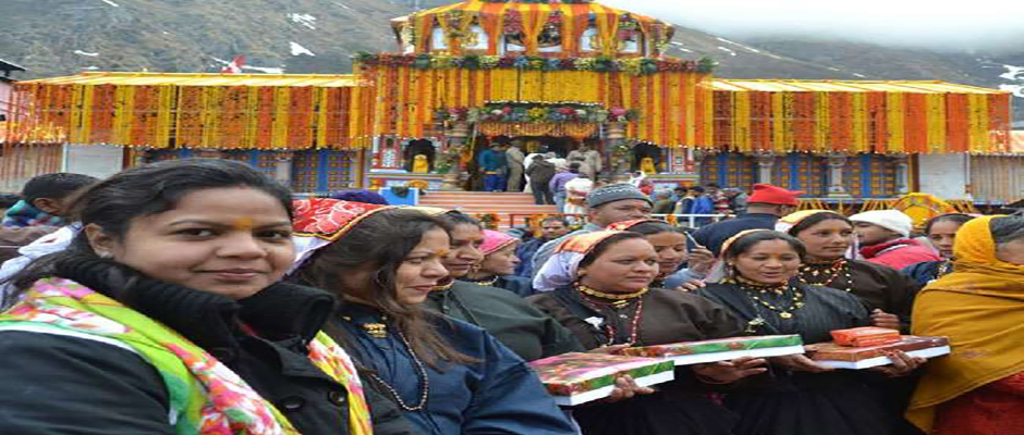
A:
{"label": "mustard-yellow shawl over the head and back of the rightmost woman", "polygon": [[948,336],[953,348],[925,365],[907,409],[907,419],[925,432],[939,405],[1024,371],[1024,265],[996,258],[995,217],[960,227],[953,273],[925,287],[914,303],[913,334]]}

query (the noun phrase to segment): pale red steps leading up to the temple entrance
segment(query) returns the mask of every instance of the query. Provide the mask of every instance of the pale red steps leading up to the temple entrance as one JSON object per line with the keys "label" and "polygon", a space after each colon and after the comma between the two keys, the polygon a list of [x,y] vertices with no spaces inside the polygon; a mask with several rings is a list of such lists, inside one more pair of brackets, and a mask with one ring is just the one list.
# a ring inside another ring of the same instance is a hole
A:
{"label": "pale red steps leading up to the temple entrance", "polygon": [[474,217],[478,214],[495,213],[499,217],[500,229],[508,229],[513,224],[525,225],[525,219],[529,214],[558,212],[554,206],[536,206],[533,195],[520,192],[430,190],[419,197],[419,204],[459,210]]}

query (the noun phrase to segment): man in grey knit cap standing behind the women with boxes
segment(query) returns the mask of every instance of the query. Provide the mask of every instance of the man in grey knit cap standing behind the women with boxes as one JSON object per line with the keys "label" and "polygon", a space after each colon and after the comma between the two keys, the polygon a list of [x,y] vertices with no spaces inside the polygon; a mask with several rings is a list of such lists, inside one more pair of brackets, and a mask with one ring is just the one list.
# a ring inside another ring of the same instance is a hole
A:
{"label": "man in grey knit cap standing behind the women with boxes", "polygon": [[629,184],[610,184],[590,190],[587,195],[587,224],[554,240],[548,241],[534,256],[534,274],[554,253],[554,248],[568,237],[605,229],[615,222],[649,219],[654,203]]}

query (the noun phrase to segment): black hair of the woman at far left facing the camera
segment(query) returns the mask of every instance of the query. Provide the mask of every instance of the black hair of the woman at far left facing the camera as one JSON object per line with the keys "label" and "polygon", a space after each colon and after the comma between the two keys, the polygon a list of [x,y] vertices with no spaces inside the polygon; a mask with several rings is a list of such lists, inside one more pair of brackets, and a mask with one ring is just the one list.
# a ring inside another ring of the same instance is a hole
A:
{"label": "black hair of the woman at far left facing the camera", "polygon": [[[219,159],[172,160],[121,171],[72,196],[68,215],[83,227],[97,225],[123,241],[136,219],[173,210],[191,192],[227,187],[248,187],[270,195],[292,216],[287,187],[244,163]],[[97,258],[85,232],[80,232],[66,249],[37,259],[8,279],[16,288],[8,300],[16,300],[36,281],[53,276],[62,261]]]}

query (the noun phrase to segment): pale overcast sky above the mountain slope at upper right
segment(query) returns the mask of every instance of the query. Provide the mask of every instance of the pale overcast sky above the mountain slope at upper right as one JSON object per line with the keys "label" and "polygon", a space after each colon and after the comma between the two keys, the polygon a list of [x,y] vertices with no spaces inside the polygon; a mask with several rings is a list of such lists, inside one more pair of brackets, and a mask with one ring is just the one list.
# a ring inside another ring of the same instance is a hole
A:
{"label": "pale overcast sky above the mountain slope at upper right", "polygon": [[1022,0],[601,0],[720,35],[815,35],[934,49],[1024,47]]}

